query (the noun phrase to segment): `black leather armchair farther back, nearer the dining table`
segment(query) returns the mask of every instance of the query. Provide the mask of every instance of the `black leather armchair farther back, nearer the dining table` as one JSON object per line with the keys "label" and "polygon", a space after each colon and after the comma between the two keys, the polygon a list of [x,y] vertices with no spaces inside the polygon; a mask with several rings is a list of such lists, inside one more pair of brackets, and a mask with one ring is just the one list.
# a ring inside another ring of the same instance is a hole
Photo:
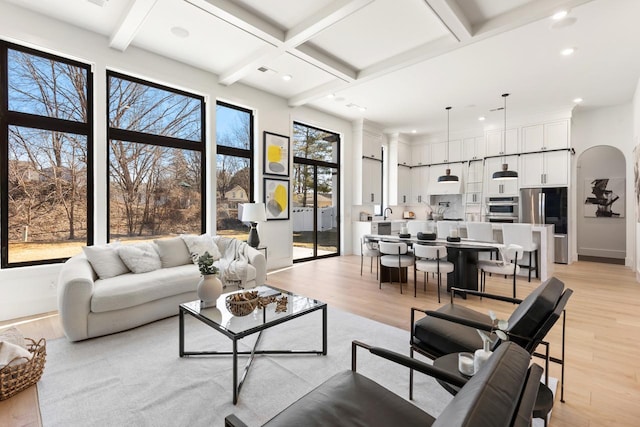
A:
{"label": "black leather armchair farther back, nearer the dining table", "polygon": [[[509,335],[511,342],[518,344],[530,354],[545,359],[547,375],[550,360],[562,366],[560,400],[564,401],[564,315],[566,304],[573,291],[565,290],[564,283],[555,277],[541,283],[524,300],[456,288],[452,289],[451,295],[454,294],[454,290],[460,294],[478,295],[518,304],[508,319],[509,327],[505,332]],[[417,312],[424,313],[426,316],[416,321]],[[563,316],[562,357],[558,359],[549,356],[549,345],[544,338],[561,315]],[[450,353],[473,352],[482,348],[482,338],[477,333],[477,329],[492,331],[491,318],[488,314],[479,313],[461,304],[454,304],[453,297],[450,304],[435,311],[412,308],[410,356],[413,357],[414,351],[430,359]],[[500,344],[500,340],[496,339],[493,349],[495,350]],[[536,353],[540,344],[545,346],[545,354]],[[410,396],[412,396],[412,383],[411,377]]]}

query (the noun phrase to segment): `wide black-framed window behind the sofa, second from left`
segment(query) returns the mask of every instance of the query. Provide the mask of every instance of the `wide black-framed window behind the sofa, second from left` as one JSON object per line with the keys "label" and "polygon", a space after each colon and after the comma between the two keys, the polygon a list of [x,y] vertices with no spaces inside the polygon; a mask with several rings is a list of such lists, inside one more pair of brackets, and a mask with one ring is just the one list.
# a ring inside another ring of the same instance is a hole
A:
{"label": "wide black-framed window behind the sofa, second from left", "polygon": [[204,229],[204,99],[107,74],[109,240]]}

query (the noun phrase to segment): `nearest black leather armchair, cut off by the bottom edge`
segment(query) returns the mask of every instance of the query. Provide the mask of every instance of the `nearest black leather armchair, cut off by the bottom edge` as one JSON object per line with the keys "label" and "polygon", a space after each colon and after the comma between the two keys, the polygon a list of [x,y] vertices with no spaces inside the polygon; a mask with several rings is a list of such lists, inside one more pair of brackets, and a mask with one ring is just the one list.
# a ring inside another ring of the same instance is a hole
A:
{"label": "nearest black leather armchair, cut off by the bottom edge", "polygon": [[[356,372],[356,346],[462,388],[434,418],[382,385]],[[447,426],[525,427],[531,423],[542,368],[513,343],[501,345],[468,382],[431,365],[378,347],[353,342],[350,371],[334,375],[280,412],[265,426]],[[246,427],[236,416],[226,427]]]}

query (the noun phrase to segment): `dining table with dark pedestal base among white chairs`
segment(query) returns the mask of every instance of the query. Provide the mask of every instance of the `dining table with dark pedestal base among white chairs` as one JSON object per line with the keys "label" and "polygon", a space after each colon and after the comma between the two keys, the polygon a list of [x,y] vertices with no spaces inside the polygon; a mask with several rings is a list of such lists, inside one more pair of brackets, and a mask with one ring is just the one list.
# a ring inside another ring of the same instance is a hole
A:
{"label": "dining table with dark pedestal base among white chairs", "polygon": [[[460,238],[455,241],[449,239],[422,240],[417,236],[401,237],[397,234],[365,234],[364,238],[372,242],[405,242],[408,246],[439,245],[447,248],[447,261],[453,263],[454,268],[447,274],[447,292],[452,287],[478,290],[478,254],[480,252],[499,253],[504,245],[498,242],[482,242],[474,239]],[[382,273],[382,270],[380,272]],[[406,274],[402,275],[405,279]],[[384,276],[383,276],[384,277]],[[462,294],[461,294],[462,295]],[[462,295],[464,297],[464,295]]]}

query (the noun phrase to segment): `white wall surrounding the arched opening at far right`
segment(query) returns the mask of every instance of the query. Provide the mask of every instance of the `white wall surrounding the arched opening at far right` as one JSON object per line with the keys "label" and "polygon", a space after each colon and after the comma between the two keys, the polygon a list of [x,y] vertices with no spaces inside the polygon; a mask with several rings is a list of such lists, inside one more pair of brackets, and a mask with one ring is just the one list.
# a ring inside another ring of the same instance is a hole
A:
{"label": "white wall surrounding the arched opening at far right", "polygon": [[[571,144],[574,147],[576,159],[581,159],[582,154],[590,148],[607,145],[615,147],[624,155],[624,172],[620,176],[626,178],[626,194],[625,194],[625,228],[626,230],[635,229],[635,203],[633,195],[633,121],[632,121],[632,105],[631,103],[604,107],[597,109],[576,108],[573,112],[571,122]],[[572,162],[571,182],[578,183],[573,185],[570,190],[570,212],[571,218],[580,218],[583,215],[583,193],[578,192],[578,188],[582,189],[582,184],[578,182],[581,176],[578,173],[579,161]],[[603,166],[604,167],[604,166]],[[581,231],[578,223],[581,221],[572,221],[571,241],[574,248],[577,248],[577,235]],[[582,230],[584,232],[584,230]],[[612,248],[615,244],[607,239],[616,238],[615,233],[611,236],[603,235],[602,247]],[[626,253],[625,265],[631,267],[635,265],[635,242],[632,233],[626,233],[626,236],[618,236],[618,239],[624,239],[624,251]],[[577,252],[574,255],[574,261],[577,259]]]}

